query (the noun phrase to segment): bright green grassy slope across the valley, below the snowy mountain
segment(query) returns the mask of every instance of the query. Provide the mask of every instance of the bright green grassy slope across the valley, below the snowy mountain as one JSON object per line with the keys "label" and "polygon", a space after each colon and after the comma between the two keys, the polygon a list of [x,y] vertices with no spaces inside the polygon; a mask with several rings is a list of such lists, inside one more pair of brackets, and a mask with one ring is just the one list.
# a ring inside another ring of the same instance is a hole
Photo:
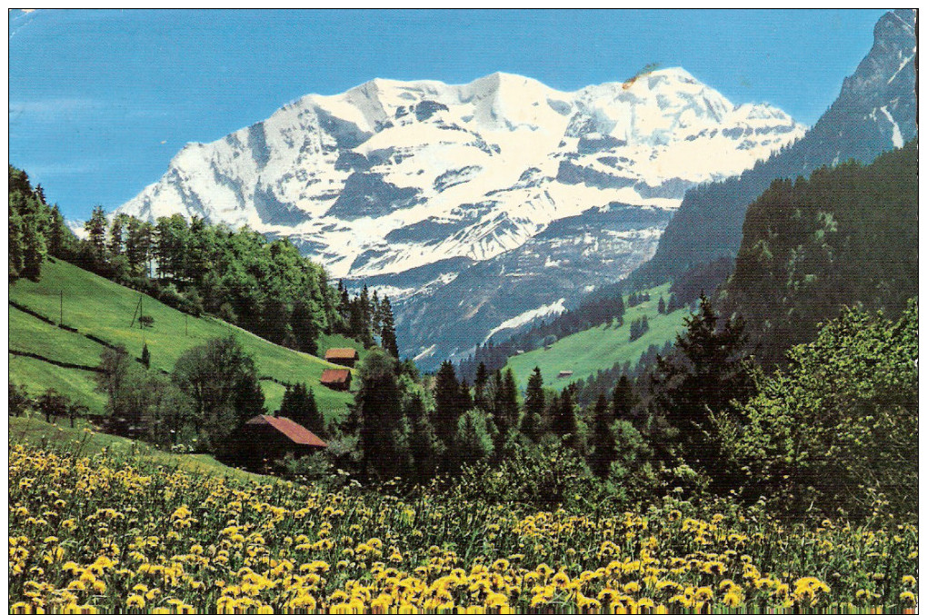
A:
{"label": "bright green grassy slope across the valley, below the snowy mountain", "polygon": [[[509,358],[506,367],[512,368],[516,382],[524,387],[531,371],[538,366],[544,383],[559,390],[568,383],[585,380],[596,371],[611,368],[616,363],[630,361],[632,366],[635,365],[649,345],[662,347],[667,340],[674,340],[676,333],[682,329],[682,319],[689,313],[684,308],[671,314],[660,314],[657,311],[660,296],[665,301],[669,299],[669,284],[656,286],[648,292],[650,301],[629,307],[625,312],[624,324],[620,327],[612,322],[567,335],[550,349],[539,348]],[[627,297],[625,299],[627,302]],[[643,316],[647,317],[650,329],[630,342],[630,323]],[[557,378],[562,370],[572,370],[573,376]]]}

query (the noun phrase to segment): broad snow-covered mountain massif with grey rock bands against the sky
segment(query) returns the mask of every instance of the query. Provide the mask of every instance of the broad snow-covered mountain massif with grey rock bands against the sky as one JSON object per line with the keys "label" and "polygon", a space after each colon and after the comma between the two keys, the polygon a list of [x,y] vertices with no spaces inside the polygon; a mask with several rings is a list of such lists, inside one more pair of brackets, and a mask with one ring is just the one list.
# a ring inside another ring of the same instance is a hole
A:
{"label": "broad snow-covered mountain massif with grey rock bands against the sky", "polygon": [[[476,263],[530,251],[556,220],[610,207],[631,217],[641,207],[666,212],[651,217],[660,221],[649,231],[606,216],[625,233],[624,248],[607,248],[601,258],[611,264],[592,266],[594,280],[584,286],[625,275],[653,254],[687,188],[738,174],[804,133],[781,110],[735,106],[683,69],[578,92],[503,73],[465,85],[374,80],[304,96],[219,141],[186,145],[159,182],[119,211],[147,219],[181,213],[289,236],[334,277],[388,279],[398,320],[422,323],[430,309],[422,295],[452,293],[453,280]],[[583,250],[584,268],[600,258],[594,246]],[[557,267],[542,269],[556,277]],[[476,286],[497,282],[489,275]],[[501,313],[485,331],[461,344],[560,298],[519,303],[517,313],[496,306]],[[434,344],[415,337],[405,348],[413,355]]]}

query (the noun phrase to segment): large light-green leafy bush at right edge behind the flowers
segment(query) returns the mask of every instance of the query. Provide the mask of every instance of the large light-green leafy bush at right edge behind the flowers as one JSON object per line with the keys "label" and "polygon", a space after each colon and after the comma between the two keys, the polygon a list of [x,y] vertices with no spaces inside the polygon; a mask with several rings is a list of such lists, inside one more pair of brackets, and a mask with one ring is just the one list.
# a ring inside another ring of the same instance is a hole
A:
{"label": "large light-green leafy bush at right edge behind the flowers", "polygon": [[743,425],[718,420],[748,495],[785,510],[862,516],[880,501],[917,515],[917,304],[895,323],[846,309],[789,358],[760,379]]}

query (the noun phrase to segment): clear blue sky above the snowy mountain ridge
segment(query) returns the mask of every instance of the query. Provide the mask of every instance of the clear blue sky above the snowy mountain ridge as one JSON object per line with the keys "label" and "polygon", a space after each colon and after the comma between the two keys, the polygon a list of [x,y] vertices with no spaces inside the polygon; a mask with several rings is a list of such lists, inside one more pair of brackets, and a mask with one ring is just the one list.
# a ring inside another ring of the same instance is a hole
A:
{"label": "clear blue sky above the snowy mountain ridge", "polygon": [[734,103],[768,102],[811,124],[883,12],[14,11],[10,162],[83,219],[157,181],[185,143],[303,94],[496,70],[576,90],[681,66]]}

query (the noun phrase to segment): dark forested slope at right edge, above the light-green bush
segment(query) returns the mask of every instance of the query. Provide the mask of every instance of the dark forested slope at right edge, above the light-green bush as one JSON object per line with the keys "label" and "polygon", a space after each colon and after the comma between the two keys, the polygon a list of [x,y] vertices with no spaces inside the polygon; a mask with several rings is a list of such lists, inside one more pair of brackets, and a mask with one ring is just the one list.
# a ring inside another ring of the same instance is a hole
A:
{"label": "dark forested slope at right edge, above the light-green bush", "polygon": [[784,361],[844,305],[896,319],[918,296],[917,144],[773,182],[747,208],[722,307],[743,316],[761,361]]}

